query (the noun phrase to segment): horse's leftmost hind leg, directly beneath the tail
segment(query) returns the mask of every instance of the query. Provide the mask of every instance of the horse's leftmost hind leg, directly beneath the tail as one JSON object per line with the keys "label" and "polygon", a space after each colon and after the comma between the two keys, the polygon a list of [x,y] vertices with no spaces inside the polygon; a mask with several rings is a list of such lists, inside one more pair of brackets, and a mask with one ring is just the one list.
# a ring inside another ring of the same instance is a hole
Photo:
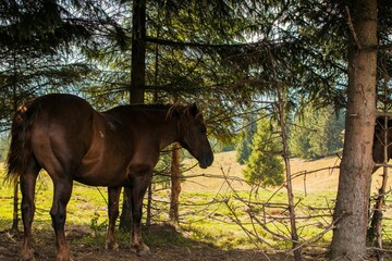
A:
{"label": "horse's leftmost hind leg, directly beneath the tail", "polygon": [[39,173],[39,165],[35,160],[30,160],[27,164],[26,172],[21,173],[20,185],[22,192],[22,221],[24,226],[24,239],[21,252],[21,260],[34,260],[34,252],[32,246],[32,223],[35,212],[35,186]]}

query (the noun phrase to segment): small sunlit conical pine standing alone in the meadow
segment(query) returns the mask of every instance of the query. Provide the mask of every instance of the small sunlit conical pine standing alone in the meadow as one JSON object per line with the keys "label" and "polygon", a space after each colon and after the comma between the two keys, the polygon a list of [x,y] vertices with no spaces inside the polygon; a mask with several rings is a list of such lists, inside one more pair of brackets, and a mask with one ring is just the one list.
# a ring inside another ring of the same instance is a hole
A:
{"label": "small sunlit conical pine standing alone in the meadow", "polygon": [[279,156],[281,146],[273,125],[265,115],[257,123],[252,144],[252,154],[244,170],[245,179],[255,185],[279,186],[283,183],[283,163]]}

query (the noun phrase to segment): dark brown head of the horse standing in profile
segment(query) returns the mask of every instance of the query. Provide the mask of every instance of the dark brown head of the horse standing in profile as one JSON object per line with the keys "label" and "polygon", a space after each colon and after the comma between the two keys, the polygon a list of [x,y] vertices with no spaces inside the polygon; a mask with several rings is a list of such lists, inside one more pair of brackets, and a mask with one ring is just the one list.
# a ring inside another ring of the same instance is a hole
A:
{"label": "dark brown head of the horse standing in profile", "polygon": [[206,169],[213,161],[211,146],[207,139],[207,127],[196,104],[180,113],[180,144]]}

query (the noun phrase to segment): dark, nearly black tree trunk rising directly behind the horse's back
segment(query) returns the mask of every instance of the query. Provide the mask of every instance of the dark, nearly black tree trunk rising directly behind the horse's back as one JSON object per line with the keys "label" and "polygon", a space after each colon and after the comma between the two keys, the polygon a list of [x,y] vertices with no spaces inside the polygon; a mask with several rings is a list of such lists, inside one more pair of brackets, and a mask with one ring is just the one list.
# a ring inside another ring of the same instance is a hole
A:
{"label": "dark, nearly black tree trunk rising directly behind the horse's back", "polygon": [[[134,0],[132,9],[132,59],[130,102],[144,103],[146,75],[146,1]],[[124,187],[120,228],[132,227],[131,189]]]}

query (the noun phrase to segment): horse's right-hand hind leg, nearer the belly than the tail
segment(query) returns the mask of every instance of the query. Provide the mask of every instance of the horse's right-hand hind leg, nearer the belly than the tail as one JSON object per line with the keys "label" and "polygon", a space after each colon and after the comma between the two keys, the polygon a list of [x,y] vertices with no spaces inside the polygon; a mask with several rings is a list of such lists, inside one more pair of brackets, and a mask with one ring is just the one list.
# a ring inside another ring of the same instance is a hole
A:
{"label": "horse's right-hand hind leg, nearer the belly than the tail", "polygon": [[50,210],[52,219],[52,226],[56,234],[57,246],[57,261],[71,261],[70,250],[65,239],[65,220],[66,220],[66,204],[70,201],[72,192],[72,179],[71,178],[56,178],[53,204]]}

